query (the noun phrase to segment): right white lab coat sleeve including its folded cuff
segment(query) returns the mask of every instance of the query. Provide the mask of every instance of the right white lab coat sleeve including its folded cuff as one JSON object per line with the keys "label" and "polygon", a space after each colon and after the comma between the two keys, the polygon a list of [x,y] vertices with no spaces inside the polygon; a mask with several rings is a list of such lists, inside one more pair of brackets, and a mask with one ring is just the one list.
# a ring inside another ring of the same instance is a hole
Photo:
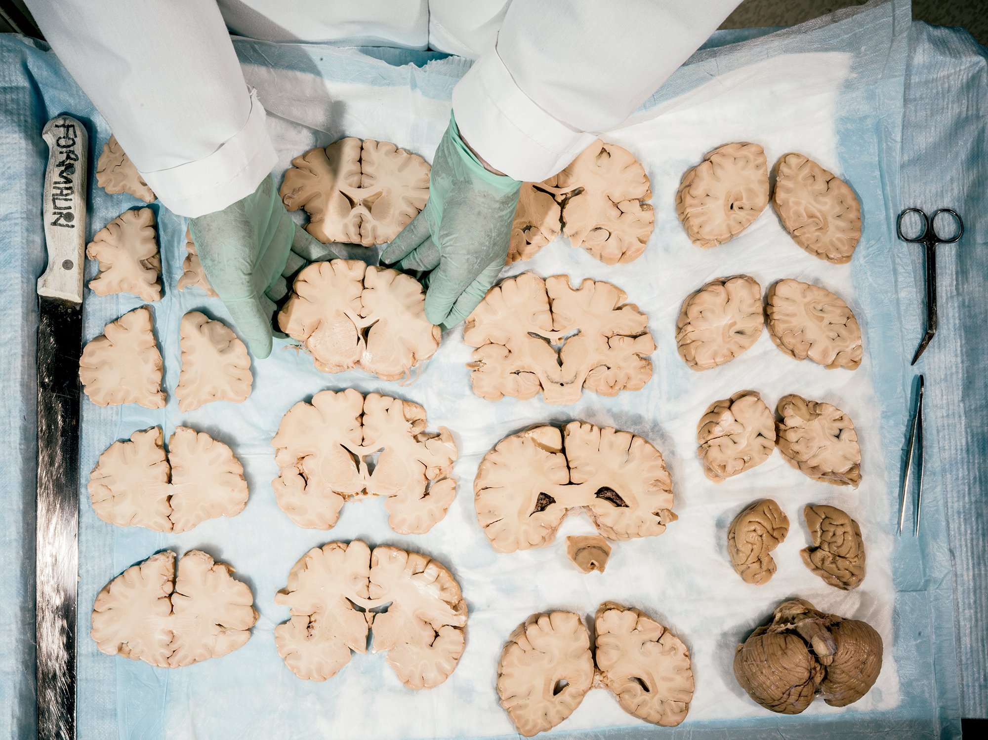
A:
{"label": "right white lab coat sleeve including its folded cuff", "polygon": [[463,138],[516,180],[555,175],[696,51],[739,0],[514,0],[453,90]]}

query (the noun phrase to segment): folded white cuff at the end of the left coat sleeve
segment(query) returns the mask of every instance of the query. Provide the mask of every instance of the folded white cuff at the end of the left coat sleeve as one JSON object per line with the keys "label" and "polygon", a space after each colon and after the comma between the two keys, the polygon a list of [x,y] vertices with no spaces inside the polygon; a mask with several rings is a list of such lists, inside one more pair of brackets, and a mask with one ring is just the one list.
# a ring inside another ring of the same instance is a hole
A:
{"label": "folded white cuff at the end of the left coat sleeve", "polygon": [[141,173],[170,211],[195,218],[222,210],[254,192],[271,174],[278,156],[254,90],[250,91],[250,102],[243,128],[212,154],[167,170]]}

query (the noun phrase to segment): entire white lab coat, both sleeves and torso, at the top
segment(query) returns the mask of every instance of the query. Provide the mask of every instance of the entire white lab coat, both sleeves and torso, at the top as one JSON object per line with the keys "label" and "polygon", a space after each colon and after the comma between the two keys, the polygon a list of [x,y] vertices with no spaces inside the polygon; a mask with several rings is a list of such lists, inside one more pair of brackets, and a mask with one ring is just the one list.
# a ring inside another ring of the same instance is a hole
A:
{"label": "entire white lab coat, both sleeves and torso, at the top", "polygon": [[460,130],[494,168],[538,181],[568,164],[591,140],[587,132],[613,127],[641,105],[737,2],[28,5],[159,200],[194,217],[252,192],[273,163],[271,141],[257,124],[263,109],[248,96],[224,23],[233,33],[261,39],[430,44],[480,56],[485,64],[462,80],[454,100]]}

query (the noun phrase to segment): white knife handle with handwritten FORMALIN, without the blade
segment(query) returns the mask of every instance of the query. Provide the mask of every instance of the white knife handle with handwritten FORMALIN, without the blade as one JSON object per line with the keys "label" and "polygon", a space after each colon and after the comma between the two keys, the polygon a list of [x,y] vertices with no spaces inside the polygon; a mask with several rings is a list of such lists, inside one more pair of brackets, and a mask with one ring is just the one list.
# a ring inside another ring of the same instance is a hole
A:
{"label": "white knife handle with handwritten FORMALIN, without the blade", "polygon": [[89,136],[78,120],[58,115],[44,125],[41,138],[48,145],[43,207],[48,263],[38,278],[38,294],[82,303]]}

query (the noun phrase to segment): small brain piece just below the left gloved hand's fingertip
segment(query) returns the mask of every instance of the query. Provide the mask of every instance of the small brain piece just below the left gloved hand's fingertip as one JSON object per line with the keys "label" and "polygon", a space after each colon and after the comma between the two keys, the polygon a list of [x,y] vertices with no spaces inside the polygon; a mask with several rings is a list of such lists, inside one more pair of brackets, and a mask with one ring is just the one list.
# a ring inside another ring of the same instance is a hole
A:
{"label": "small brain piece just below the left gloved hand's fingertip", "polygon": [[190,311],[180,325],[182,373],[175,389],[180,411],[213,401],[239,404],[250,396],[254,376],[247,347],[229,327]]}

